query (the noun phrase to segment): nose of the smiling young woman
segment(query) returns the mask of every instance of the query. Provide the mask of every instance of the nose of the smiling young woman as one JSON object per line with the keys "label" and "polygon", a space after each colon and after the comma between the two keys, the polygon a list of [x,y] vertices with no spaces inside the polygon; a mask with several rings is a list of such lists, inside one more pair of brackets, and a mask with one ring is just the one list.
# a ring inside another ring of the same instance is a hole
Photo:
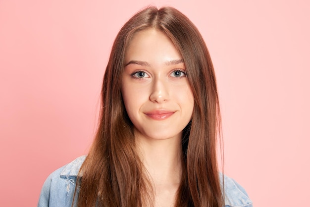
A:
{"label": "nose of the smiling young woman", "polygon": [[150,100],[158,104],[164,103],[169,100],[168,86],[164,83],[164,81],[154,81]]}

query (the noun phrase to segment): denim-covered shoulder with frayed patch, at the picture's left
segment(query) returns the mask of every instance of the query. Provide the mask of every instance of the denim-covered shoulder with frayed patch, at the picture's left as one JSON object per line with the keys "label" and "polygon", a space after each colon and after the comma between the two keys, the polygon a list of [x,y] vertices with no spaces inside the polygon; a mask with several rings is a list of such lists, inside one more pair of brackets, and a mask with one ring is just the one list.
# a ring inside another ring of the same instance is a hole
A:
{"label": "denim-covered shoulder with frayed patch, at the picture's left", "polygon": [[76,179],[86,155],[52,172],[41,189],[38,207],[71,207]]}

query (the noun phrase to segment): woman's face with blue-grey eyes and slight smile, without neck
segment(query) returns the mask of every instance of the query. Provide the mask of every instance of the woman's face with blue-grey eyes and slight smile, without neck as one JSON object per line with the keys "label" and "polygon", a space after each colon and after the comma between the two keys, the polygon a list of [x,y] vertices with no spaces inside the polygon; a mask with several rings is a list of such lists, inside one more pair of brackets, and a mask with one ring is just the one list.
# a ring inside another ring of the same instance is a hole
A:
{"label": "woman's face with blue-grey eyes and slight smile, without neck", "polygon": [[122,97],[135,137],[181,138],[194,98],[173,43],[155,29],[134,35],[125,53]]}

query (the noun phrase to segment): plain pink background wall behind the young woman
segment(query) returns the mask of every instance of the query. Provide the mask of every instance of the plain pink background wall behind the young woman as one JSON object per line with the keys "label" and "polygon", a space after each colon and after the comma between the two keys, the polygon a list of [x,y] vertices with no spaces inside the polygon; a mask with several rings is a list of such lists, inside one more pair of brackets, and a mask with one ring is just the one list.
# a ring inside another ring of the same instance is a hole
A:
{"label": "plain pink background wall behind the young woman", "polygon": [[180,9],[207,42],[226,174],[255,207],[307,206],[306,0],[0,0],[0,206],[36,206],[46,177],[87,153],[113,39],[149,4]]}

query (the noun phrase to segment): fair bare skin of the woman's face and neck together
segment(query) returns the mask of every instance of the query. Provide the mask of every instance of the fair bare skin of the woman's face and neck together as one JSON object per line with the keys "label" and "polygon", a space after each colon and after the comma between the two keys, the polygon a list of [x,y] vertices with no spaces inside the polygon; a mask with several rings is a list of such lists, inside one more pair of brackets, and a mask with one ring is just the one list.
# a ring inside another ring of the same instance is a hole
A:
{"label": "fair bare skin of the woman's face and neck together", "polygon": [[153,181],[155,206],[173,206],[182,175],[182,130],[192,118],[194,98],[182,57],[165,34],[148,29],[134,35],[121,92]]}

